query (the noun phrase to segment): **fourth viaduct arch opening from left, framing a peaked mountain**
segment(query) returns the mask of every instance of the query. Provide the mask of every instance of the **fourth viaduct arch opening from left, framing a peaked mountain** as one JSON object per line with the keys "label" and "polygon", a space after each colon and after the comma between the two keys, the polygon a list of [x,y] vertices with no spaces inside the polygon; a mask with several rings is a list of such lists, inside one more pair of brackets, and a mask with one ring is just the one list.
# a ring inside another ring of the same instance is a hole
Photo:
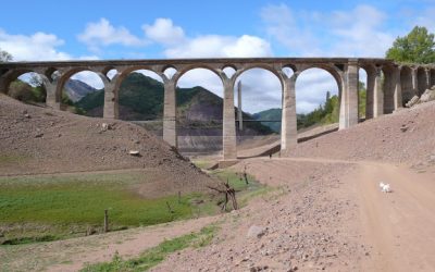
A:
{"label": "fourth viaduct arch opening from left, framing a peaked mountain", "polygon": [[176,134],[185,154],[219,153],[223,133],[223,84],[211,70],[188,70],[176,83]]}

